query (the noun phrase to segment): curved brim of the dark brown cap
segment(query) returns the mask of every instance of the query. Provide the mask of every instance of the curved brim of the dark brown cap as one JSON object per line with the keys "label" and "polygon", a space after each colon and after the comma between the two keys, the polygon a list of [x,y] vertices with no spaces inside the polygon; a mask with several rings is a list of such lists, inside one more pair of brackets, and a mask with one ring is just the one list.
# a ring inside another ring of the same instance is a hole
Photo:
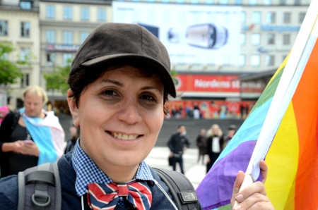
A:
{"label": "curved brim of the dark brown cap", "polygon": [[[120,62],[119,61],[125,61],[125,60],[139,60],[139,61],[143,61],[145,63],[143,64],[147,64],[147,66],[150,66],[152,68],[155,68],[156,71],[154,71],[155,73],[158,73],[158,75],[161,76],[161,78],[163,79],[163,83],[165,85],[165,87],[167,87],[167,92],[172,96],[172,97],[176,97],[176,91],[175,91],[175,83],[172,80],[172,77],[170,75],[170,69],[165,68],[165,66],[163,66],[163,64],[161,64],[160,62],[156,61],[155,59],[148,57],[148,56],[141,56],[140,54],[112,54],[112,55],[107,55],[107,56],[100,56],[97,58],[93,58],[89,61],[85,61],[83,63],[81,63],[81,66],[85,67],[92,67],[92,66],[98,66],[102,63],[107,63],[107,62],[118,62],[118,64],[125,64],[124,62]],[[131,63],[129,63],[129,65],[131,65]]]}

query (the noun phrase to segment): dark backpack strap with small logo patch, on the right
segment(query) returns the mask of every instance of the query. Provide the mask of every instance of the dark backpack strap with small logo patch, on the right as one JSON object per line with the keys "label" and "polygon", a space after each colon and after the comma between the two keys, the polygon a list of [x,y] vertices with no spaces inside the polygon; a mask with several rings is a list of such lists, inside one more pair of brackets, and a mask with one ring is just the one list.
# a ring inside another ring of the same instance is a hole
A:
{"label": "dark backpack strap with small logo patch, on the right", "polygon": [[163,168],[153,168],[167,185],[180,210],[201,209],[196,191],[188,178],[177,171]]}

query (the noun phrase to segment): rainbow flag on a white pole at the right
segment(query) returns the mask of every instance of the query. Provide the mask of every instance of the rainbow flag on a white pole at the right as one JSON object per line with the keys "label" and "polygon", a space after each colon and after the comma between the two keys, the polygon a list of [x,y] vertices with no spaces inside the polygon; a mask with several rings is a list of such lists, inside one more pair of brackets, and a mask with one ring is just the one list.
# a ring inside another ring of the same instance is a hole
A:
{"label": "rainbow flag on a white pole at the right", "polygon": [[[285,59],[196,193],[204,209],[230,209],[237,171],[260,180],[276,209],[318,209],[318,0]],[[223,206],[223,207],[220,207]]]}

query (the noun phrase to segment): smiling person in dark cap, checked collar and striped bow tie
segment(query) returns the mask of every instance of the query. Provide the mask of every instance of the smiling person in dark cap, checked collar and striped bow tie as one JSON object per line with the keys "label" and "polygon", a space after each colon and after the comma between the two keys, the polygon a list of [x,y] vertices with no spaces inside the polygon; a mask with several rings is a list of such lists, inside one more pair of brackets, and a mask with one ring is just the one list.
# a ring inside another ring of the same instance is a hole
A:
{"label": "smiling person in dark cap, checked collar and striped bow tie", "polygon": [[[163,125],[168,95],[176,97],[163,44],[139,25],[100,25],[78,49],[68,83],[67,100],[81,137],[58,163],[62,209],[174,209],[169,190],[143,161]],[[266,177],[264,163],[262,168]],[[95,183],[136,183],[143,186],[141,197],[146,199],[142,208],[121,195],[95,206]],[[2,187],[0,180],[1,204],[14,205],[15,198],[1,197]],[[242,193],[249,202],[243,200],[241,206],[252,202],[269,209],[264,192],[253,196],[264,185],[248,188]],[[0,209],[5,207],[1,204]]]}

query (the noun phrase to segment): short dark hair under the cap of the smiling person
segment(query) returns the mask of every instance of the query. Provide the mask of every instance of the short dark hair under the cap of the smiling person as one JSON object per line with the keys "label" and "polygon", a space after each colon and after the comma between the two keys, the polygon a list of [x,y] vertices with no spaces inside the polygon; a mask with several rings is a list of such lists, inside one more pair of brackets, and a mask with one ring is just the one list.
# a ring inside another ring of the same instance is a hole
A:
{"label": "short dark hair under the cap of the smiling person", "polygon": [[[107,65],[110,66],[110,65]],[[76,102],[76,106],[78,107],[78,101],[81,97],[81,93],[83,90],[86,89],[88,85],[93,83],[95,80],[100,78],[101,75],[103,75],[107,70],[113,70],[116,68],[121,68],[123,66],[133,66],[135,68],[139,68],[141,70],[141,74],[145,77],[151,77],[153,74],[155,74],[153,71],[149,70],[149,68],[146,68],[142,63],[134,63],[134,65],[131,65],[131,63],[125,64],[125,65],[111,65],[110,68],[102,68],[102,66],[96,66],[96,68],[81,68],[81,70],[77,70],[76,73],[69,75],[69,79],[67,80],[67,84],[69,84],[69,87],[72,90],[72,94],[69,95],[70,98],[73,97],[73,99]],[[94,73],[92,73],[92,70]],[[159,75],[158,75],[159,76]],[[165,82],[163,78],[161,78],[164,84],[164,90],[163,90],[163,104],[168,101],[168,92],[166,89]],[[167,115],[167,109],[163,107],[163,112],[165,115]]]}

